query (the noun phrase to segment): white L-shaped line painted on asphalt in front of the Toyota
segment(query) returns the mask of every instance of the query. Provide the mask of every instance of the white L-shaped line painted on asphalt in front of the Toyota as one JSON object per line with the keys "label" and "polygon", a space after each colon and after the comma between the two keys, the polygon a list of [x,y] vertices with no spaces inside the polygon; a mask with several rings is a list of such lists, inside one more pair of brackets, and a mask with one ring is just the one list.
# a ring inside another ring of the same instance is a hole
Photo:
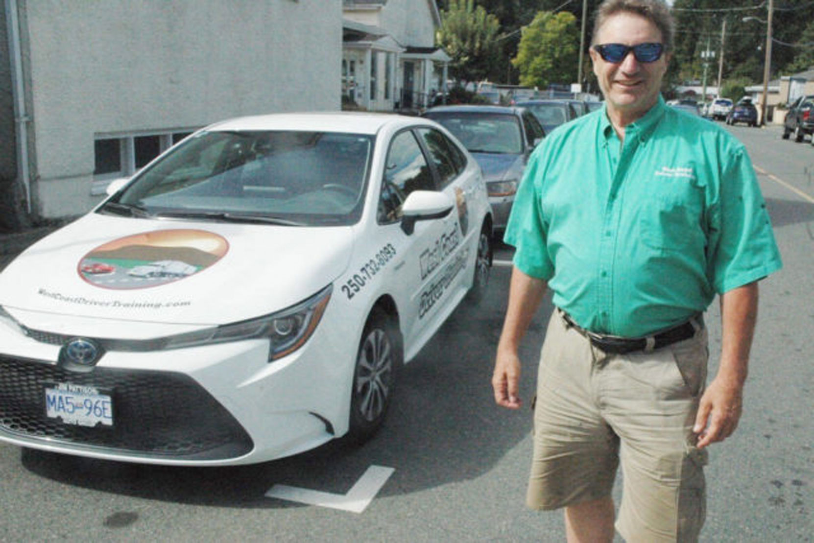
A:
{"label": "white L-shaped line painted on asphalt in front of the Toyota", "polygon": [[308,488],[290,487],[287,484],[275,484],[265,495],[281,500],[297,501],[309,506],[330,507],[361,513],[367,509],[367,506],[370,506],[370,502],[390,479],[390,475],[393,475],[393,471],[396,470],[392,467],[370,466],[365,471],[365,475],[357,480],[347,494],[333,494]]}

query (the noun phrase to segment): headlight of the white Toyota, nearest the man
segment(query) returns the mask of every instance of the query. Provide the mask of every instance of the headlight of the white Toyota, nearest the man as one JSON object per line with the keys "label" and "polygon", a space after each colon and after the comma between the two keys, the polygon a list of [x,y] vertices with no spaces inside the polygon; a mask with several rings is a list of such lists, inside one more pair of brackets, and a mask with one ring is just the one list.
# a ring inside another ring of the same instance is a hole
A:
{"label": "headlight of the white Toyota, nearest the man", "polygon": [[159,340],[160,348],[198,347],[260,338],[269,339],[269,361],[277,360],[295,352],[313,335],[332,290],[333,286],[329,285],[300,304],[263,317],[167,336]]}

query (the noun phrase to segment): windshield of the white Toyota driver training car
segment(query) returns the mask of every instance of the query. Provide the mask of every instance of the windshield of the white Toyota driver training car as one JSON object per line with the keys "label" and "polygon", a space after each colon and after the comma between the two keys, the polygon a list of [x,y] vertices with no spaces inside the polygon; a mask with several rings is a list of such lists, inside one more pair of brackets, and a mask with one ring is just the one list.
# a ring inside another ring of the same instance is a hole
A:
{"label": "windshield of the white Toyota driver training car", "polygon": [[203,132],[140,173],[100,212],[296,226],[359,220],[374,137]]}

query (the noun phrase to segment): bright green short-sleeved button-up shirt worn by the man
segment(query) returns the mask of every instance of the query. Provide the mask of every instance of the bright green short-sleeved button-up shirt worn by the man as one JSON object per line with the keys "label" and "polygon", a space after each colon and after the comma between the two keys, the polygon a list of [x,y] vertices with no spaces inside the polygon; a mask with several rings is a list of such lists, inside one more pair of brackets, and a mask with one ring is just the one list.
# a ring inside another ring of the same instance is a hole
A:
{"label": "bright green short-sleeved button-up shirt worn by the man", "polygon": [[639,337],[781,268],[741,142],[659,98],[625,128],[605,108],[534,151],[506,227],[514,265],[580,326]]}

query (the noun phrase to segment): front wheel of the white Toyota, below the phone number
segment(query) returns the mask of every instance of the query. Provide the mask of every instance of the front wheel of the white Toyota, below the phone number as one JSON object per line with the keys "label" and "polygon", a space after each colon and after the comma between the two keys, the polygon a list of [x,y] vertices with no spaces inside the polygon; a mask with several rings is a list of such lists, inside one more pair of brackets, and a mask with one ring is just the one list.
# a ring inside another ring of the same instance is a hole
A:
{"label": "front wheel of the white Toyota, below the phone number", "polygon": [[396,324],[387,313],[374,308],[362,332],[353,370],[348,428],[352,443],[370,440],[382,426],[401,366],[401,349]]}

